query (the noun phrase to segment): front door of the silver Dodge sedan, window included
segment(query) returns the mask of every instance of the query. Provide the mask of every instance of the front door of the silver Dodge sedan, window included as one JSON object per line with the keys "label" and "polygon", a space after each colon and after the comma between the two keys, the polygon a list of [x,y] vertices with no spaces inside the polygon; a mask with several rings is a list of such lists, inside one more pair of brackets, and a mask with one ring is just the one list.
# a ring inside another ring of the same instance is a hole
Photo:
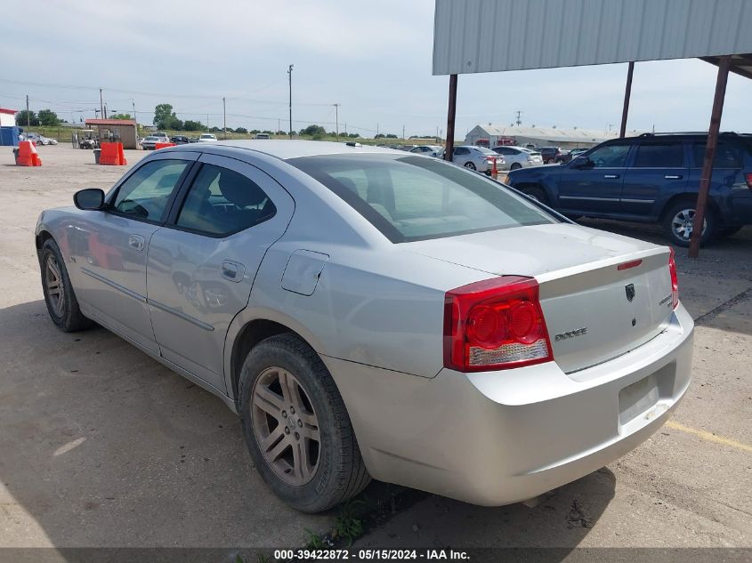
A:
{"label": "front door of the silver Dodge sedan, window included", "polygon": [[160,157],[134,169],[110,192],[106,210],[81,215],[72,245],[84,312],[152,351],[157,345],[146,304],[149,240],[191,162]]}

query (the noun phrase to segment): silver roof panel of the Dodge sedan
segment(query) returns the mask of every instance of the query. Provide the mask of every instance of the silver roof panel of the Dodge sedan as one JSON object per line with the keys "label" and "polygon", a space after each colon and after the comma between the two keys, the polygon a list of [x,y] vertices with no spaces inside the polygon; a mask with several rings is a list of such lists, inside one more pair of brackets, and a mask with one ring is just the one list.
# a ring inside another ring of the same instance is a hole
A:
{"label": "silver roof panel of the Dodge sedan", "polygon": [[[211,151],[227,147],[228,149],[246,149],[260,152],[271,157],[287,160],[288,158],[297,157],[319,157],[326,155],[350,155],[353,153],[381,153],[394,154],[394,149],[382,149],[381,147],[352,147],[344,142],[328,141],[297,141],[297,140],[280,140],[270,139],[265,141],[219,141],[212,143]],[[170,148],[170,150],[179,150],[179,147]],[[204,149],[204,148],[202,148]],[[194,147],[183,150],[196,150]],[[209,150],[206,148],[206,150]],[[230,151],[228,151],[230,152]],[[404,153],[403,153],[404,154]]]}

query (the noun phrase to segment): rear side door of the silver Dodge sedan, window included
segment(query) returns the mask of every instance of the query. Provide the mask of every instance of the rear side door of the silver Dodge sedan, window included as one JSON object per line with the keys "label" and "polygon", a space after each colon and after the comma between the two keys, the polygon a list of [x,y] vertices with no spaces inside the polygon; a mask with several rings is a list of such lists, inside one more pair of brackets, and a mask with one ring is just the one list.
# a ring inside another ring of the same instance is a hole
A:
{"label": "rear side door of the silver Dodge sedan, window included", "polygon": [[267,249],[294,203],[253,165],[204,155],[169,224],[151,237],[149,309],[160,353],[225,390],[223,350]]}

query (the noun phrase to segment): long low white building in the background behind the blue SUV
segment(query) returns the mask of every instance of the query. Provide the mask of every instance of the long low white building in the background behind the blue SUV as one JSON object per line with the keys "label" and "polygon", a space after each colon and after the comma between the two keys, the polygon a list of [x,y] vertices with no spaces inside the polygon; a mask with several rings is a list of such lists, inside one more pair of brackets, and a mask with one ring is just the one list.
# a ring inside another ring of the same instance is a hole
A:
{"label": "long low white building in the background behind the blue SUV", "polygon": [[[627,132],[628,136],[643,132]],[[616,139],[619,132],[602,129],[580,129],[578,127],[523,127],[522,125],[475,125],[465,137],[466,145],[478,144],[481,139],[487,139],[489,147],[496,147],[504,141],[513,139],[513,144],[533,144],[537,147],[561,147],[562,149],[576,149],[578,147],[593,147],[609,139]],[[482,144],[483,141],[481,141]],[[508,144],[508,142],[506,143]]]}

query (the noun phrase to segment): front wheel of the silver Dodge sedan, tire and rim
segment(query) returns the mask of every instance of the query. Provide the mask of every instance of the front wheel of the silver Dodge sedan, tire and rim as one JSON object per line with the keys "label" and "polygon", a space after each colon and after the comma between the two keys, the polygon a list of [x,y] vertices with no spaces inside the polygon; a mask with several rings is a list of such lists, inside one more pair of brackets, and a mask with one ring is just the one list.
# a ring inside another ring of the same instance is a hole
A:
{"label": "front wheel of the silver Dodge sedan, tire and rim", "polygon": [[48,238],[40,253],[44,303],[53,323],[64,333],[75,333],[94,325],[78,308],[78,300],[70,285],[68,269],[57,243]]}

